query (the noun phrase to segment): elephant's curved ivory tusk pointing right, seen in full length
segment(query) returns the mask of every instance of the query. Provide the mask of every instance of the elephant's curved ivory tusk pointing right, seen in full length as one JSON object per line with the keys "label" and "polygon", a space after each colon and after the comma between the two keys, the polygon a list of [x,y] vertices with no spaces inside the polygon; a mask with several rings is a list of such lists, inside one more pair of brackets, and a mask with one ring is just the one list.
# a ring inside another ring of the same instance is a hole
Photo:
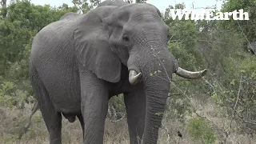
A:
{"label": "elephant's curved ivory tusk pointing right, seen in full length", "polygon": [[192,71],[184,70],[181,67],[178,67],[178,69],[176,70],[175,73],[182,78],[198,79],[198,78],[202,78],[204,75],[206,75],[207,70],[192,72]]}

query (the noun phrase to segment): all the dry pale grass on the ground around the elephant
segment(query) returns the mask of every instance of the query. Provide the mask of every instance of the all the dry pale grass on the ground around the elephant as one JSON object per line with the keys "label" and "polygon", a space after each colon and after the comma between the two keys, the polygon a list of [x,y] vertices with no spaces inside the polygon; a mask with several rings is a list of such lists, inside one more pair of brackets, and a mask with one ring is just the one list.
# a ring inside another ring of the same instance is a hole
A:
{"label": "all the dry pale grass on the ground around the elephant", "polygon": [[[229,130],[230,119],[224,118],[216,107],[206,102],[196,102],[198,111],[214,122],[217,126],[224,130]],[[25,110],[10,110],[0,107],[0,144],[34,144],[34,143],[49,143],[48,132],[42,120],[40,111],[37,111],[32,118],[33,125],[30,126],[28,132],[18,140],[19,128],[26,122],[29,117],[31,106],[26,106]],[[187,117],[187,119],[190,117]],[[159,141],[160,144],[189,144],[190,136],[186,130],[186,124],[182,124],[175,120],[164,119],[163,126],[160,130]],[[218,135],[218,142],[223,142],[222,133],[216,127],[213,127]],[[230,131],[230,136],[226,143],[241,143],[253,144],[256,143],[256,138],[251,138],[249,135],[239,134],[233,126],[234,130]],[[182,132],[182,137],[179,138],[177,132]],[[82,143],[82,129],[79,121],[74,123],[68,122],[65,118],[62,120],[62,142],[64,144]],[[126,119],[120,122],[109,122],[106,120],[106,129],[104,136],[104,143],[106,144],[129,144],[129,134],[126,124]]]}

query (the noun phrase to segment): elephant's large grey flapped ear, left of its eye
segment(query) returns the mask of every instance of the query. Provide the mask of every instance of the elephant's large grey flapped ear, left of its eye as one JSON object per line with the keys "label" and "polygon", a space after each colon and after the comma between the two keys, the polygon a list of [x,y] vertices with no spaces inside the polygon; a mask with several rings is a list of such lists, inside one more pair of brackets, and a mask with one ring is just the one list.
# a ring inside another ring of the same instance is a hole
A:
{"label": "elephant's large grey flapped ear, left of its eye", "polygon": [[[105,12],[106,14],[106,12]],[[108,82],[118,82],[121,62],[110,50],[109,35],[98,13],[85,14],[74,30],[74,50],[78,61]]]}

